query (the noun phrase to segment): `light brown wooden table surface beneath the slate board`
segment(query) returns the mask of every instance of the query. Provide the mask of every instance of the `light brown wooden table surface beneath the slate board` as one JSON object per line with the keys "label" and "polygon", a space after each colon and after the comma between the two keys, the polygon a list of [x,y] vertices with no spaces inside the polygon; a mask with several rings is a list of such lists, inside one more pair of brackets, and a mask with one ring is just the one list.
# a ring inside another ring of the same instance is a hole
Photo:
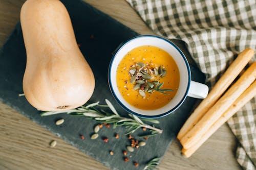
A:
{"label": "light brown wooden table surface beneath the slate board", "polygon": [[[0,0],[1,47],[19,20],[20,7],[24,2],[25,0]],[[140,34],[154,34],[124,0],[87,2]],[[49,148],[51,140],[57,141],[55,148]],[[236,145],[236,138],[228,126],[223,125],[188,159],[181,156],[181,145],[178,140],[174,140],[159,168],[241,169],[234,158]],[[109,168],[0,102],[0,169]]]}

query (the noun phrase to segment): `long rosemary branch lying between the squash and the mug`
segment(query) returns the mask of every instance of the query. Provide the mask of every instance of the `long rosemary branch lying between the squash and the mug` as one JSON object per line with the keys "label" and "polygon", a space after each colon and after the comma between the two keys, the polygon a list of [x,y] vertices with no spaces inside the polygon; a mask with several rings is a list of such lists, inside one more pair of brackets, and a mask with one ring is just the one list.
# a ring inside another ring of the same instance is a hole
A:
{"label": "long rosemary branch lying between the squash and the mug", "polygon": [[[143,127],[150,129],[151,131],[151,134],[145,136],[153,136],[156,134],[161,134],[163,132],[163,130],[161,129],[155,128],[154,126],[150,126],[144,123],[145,121],[147,121],[154,124],[159,124],[158,120],[139,118],[136,115],[132,114],[128,114],[130,117],[120,116],[109,100],[105,99],[105,102],[106,105],[100,105],[99,102],[96,102],[71,110],[43,112],[41,113],[41,116],[49,116],[60,113],[67,113],[72,116],[86,116],[87,118],[95,119],[98,122],[113,124],[114,129],[118,126],[125,126],[127,131],[125,135],[134,133],[136,130]],[[98,110],[96,107],[98,107],[100,110]],[[105,107],[108,107],[112,112],[108,112],[106,110],[101,109]]]}

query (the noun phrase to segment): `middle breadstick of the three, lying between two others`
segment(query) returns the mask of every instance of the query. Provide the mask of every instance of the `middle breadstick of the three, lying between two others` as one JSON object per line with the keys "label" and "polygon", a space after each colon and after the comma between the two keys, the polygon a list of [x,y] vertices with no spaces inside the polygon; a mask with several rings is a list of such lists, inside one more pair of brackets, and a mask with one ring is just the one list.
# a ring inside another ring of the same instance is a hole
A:
{"label": "middle breadstick of the three, lying between two others", "polygon": [[199,122],[180,140],[183,148],[188,149],[214,124],[234,101],[250,86],[256,78],[256,62],[254,62],[234,83],[218,102],[210,108]]}

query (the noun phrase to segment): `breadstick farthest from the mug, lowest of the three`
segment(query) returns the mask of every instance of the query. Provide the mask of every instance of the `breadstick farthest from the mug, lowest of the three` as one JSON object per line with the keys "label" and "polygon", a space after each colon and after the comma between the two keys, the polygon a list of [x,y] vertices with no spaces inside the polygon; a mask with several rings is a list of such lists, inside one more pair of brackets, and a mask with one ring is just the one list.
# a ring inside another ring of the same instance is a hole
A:
{"label": "breadstick farthest from the mug, lowest of the three", "polygon": [[227,120],[232,117],[239,109],[241,109],[247,102],[249,102],[256,95],[256,81],[254,81],[228,108],[225,113],[217,120],[217,122],[210,127],[210,129],[200,138],[200,140],[192,147],[182,149],[182,154],[185,157],[190,157],[197,149],[212,135],[214,134]]}

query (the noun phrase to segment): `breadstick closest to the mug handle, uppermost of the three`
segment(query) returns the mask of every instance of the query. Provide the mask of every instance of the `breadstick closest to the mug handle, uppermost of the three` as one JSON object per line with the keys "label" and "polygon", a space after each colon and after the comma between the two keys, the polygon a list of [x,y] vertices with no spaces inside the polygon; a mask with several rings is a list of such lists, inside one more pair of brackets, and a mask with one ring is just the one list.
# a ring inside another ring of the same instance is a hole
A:
{"label": "breadstick closest to the mug handle, uppermost of the three", "polygon": [[186,123],[178,133],[177,138],[180,140],[195,124],[202,118],[202,116],[217,102],[220,96],[239,75],[245,65],[250,61],[254,51],[251,48],[246,48],[242,53],[238,55],[236,60],[228,67],[219,81],[215,84],[207,97],[201,102],[201,104],[195,109],[195,111],[186,120]]}

